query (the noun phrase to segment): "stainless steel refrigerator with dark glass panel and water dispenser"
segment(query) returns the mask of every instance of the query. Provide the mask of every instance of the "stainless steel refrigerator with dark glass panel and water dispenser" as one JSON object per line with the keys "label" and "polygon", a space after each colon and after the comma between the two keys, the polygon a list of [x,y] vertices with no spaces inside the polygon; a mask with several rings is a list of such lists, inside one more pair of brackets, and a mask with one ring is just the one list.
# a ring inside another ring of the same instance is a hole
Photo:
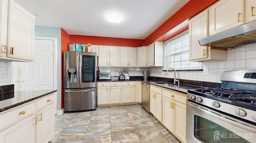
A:
{"label": "stainless steel refrigerator with dark glass panel and water dispenser", "polygon": [[97,108],[97,54],[64,51],[64,110]]}

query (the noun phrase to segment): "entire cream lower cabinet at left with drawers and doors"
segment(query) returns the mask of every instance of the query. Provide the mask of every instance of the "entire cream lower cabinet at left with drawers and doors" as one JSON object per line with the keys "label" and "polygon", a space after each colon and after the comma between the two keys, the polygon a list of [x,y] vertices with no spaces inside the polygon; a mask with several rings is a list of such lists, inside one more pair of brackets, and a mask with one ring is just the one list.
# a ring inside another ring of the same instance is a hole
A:
{"label": "entire cream lower cabinet at left with drawers and doors", "polygon": [[54,100],[50,94],[2,112],[0,143],[48,143],[55,128]]}

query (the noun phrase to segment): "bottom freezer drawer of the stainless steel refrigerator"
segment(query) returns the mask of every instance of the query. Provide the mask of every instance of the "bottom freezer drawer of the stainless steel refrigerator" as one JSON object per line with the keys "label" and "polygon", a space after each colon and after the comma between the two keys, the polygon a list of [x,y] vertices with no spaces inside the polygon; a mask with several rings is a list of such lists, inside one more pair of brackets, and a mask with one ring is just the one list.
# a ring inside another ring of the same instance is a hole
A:
{"label": "bottom freezer drawer of the stainless steel refrigerator", "polygon": [[97,108],[97,88],[64,89],[64,110],[80,111]]}

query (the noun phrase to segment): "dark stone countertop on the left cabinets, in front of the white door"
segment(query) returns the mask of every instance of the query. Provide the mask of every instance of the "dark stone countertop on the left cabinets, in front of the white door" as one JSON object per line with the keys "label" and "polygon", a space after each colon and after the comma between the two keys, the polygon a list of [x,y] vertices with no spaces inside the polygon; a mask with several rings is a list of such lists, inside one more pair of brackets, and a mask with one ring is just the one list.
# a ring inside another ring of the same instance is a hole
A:
{"label": "dark stone countertop on the left cabinets, in front of the white door", "polygon": [[57,92],[57,90],[27,90],[0,92],[0,112],[36,100],[43,96]]}

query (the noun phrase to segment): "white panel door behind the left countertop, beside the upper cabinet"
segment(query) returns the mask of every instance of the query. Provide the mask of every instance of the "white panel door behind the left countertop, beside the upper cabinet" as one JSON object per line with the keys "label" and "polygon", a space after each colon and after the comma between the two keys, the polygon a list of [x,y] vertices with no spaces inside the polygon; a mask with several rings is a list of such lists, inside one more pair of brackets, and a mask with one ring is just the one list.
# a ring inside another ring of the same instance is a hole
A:
{"label": "white panel door behind the left countertop, beside the upper cabinet", "polygon": [[[34,47],[34,62],[20,62],[19,68],[14,64],[14,84],[20,84],[19,89],[16,88],[16,90],[54,89],[53,40],[35,39]],[[19,78],[15,78],[15,75],[19,75]]]}

